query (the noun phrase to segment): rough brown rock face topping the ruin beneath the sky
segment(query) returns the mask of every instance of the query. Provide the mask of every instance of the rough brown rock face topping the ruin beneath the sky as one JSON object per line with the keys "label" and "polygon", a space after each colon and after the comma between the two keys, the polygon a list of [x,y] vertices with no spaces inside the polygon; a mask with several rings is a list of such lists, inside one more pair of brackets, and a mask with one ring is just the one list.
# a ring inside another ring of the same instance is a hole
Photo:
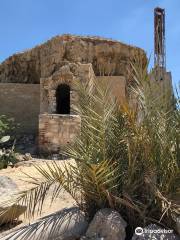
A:
{"label": "rough brown rock face topping the ruin beneath the sky", "polygon": [[92,63],[96,76],[124,75],[134,55],[145,52],[118,41],[98,38],[62,35],[31,50],[15,54],[0,64],[0,82],[39,83],[41,77],[49,77],[67,63]]}

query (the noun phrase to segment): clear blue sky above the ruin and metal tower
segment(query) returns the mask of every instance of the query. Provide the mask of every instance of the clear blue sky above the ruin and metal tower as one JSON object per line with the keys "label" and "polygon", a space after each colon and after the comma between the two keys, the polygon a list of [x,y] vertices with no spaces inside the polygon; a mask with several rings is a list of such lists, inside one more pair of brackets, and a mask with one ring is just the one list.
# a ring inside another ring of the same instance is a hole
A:
{"label": "clear blue sky above the ruin and metal tower", "polygon": [[112,38],[143,48],[153,64],[153,9],[166,10],[167,70],[180,81],[180,0],[0,0],[0,62],[53,36]]}

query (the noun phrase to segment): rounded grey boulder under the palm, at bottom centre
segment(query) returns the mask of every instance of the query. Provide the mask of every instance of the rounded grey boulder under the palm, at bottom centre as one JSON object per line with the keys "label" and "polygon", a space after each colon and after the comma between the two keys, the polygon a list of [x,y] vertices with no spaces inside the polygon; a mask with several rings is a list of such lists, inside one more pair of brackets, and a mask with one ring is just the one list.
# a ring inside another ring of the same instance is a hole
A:
{"label": "rounded grey boulder under the palm, at bottom centre", "polygon": [[104,208],[95,214],[85,239],[124,240],[126,226],[126,222],[117,211]]}

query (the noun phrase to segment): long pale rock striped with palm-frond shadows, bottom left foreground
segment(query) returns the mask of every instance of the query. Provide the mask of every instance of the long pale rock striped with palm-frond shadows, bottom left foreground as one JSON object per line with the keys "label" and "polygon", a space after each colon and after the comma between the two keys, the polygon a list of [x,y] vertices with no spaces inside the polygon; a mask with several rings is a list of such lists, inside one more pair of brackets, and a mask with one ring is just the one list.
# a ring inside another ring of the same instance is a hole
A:
{"label": "long pale rock striped with palm-frond shadows, bottom left foreground", "polygon": [[37,222],[0,237],[1,240],[77,240],[85,234],[88,222],[77,207],[63,209]]}

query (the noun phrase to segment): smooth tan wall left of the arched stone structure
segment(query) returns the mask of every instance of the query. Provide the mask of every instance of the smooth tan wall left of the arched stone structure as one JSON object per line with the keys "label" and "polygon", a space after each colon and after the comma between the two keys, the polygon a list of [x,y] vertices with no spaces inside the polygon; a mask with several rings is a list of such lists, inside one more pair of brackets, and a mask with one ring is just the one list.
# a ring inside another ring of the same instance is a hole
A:
{"label": "smooth tan wall left of the arched stone structure", "polygon": [[39,84],[0,83],[0,115],[20,124],[17,133],[37,134],[39,111]]}

